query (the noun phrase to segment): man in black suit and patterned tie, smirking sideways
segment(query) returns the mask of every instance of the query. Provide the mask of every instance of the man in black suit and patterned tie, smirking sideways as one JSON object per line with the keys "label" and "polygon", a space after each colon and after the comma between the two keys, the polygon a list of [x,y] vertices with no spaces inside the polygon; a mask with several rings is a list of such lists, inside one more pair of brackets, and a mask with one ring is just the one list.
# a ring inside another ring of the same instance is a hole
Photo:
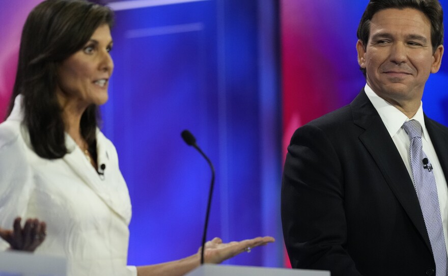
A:
{"label": "man in black suit and patterned tie, smirking sideways", "polygon": [[442,17],[437,0],[368,4],[356,44],[367,85],[288,147],[282,223],[293,267],[447,275],[448,128],[421,103],[441,64]]}

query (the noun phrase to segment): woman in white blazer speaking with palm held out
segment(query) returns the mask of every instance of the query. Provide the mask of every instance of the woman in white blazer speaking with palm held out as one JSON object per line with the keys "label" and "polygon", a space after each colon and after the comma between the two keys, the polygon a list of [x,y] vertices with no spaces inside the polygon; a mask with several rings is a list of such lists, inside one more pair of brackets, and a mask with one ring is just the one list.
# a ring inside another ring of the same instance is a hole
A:
{"label": "woman in white blazer speaking with palm held out", "polygon": [[[15,215],[45,221],[37,252],[65,256],[69,275],[182,275],[199,265],[199,253],[126,266],[129,193],[96,118],[114,69],[112,23],[109,9],[85,0],[47,0],[27,18],[9,117],[0,124],[0,226]],[[215,238],[205,261],[272,241]]]}

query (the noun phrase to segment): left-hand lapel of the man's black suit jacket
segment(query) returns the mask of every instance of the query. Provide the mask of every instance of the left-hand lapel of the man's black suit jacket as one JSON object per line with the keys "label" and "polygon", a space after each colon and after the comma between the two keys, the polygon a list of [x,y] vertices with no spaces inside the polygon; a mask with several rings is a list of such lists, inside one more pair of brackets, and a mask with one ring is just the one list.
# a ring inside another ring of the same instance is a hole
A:
{"label": "left-hand lapel of the man's black suit jacket", "polygon": [[359,135],[359,139],[372,155],[390,189],[394,192],[417,231],[422,235],[429,250],[431,250],[425,220],[414,185],[381,117],[363,90],[350,106],[354,123],[365,129]]}

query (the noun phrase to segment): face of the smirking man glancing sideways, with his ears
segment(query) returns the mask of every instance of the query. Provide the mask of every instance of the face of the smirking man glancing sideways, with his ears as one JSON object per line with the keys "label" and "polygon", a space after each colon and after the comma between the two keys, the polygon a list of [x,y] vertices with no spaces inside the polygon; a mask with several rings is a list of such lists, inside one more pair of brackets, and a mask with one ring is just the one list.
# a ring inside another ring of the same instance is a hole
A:
{"label": "face of the smirking man glancing sideways, with his ears", "polygon": [[377,12],[367,45],[358,41],[356,49],[367,84],[399,109],[419,106],[425,82],[439,70],[443,54],[442,45],[433,53],[429,19],[411,8]]}

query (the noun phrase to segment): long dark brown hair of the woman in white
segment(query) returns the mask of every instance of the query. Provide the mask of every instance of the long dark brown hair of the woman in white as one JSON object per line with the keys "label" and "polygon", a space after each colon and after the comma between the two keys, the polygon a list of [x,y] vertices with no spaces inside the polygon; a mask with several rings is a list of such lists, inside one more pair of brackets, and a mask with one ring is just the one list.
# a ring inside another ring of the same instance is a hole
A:
{"label": "long dark brown hair of the woman in white", "polygon": [[[81,49],[102,24],[113,24],[113,12],[85,0],[46,0],[30,13],[23,26],[17,74],[8,115],[14,99],[23,96],[23,124],[34,151],[43,158],[63,157],[65,125],[57,96],[58,68]],[[96,144],[98,107],[87,107],[80,131],[89,148]]]}

